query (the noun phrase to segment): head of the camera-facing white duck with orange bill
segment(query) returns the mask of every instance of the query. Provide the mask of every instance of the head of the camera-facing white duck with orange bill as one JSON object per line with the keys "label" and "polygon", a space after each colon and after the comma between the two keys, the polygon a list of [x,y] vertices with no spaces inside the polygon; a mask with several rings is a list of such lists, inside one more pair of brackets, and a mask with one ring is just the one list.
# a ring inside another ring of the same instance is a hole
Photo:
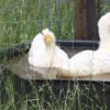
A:
{"label": "head of the camera-facing white duck with orange bill", "polygon": [[55,45],[55,35],[53,32],[51,32],[48,29],[45,29],[42,31],[42,34],[44,36],[44,43],[46,46]]}

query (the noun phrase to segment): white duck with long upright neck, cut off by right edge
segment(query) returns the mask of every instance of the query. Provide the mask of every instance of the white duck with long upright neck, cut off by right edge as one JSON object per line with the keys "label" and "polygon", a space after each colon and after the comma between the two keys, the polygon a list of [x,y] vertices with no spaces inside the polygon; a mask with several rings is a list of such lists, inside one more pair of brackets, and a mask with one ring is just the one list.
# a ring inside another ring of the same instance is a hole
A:
{"label": "white duck with long upright neck, cut off by right edge", "polygon": [[72,76],[110,73],[110,12],[98,22],[100,46],[97,51],[82,51],[69,59]]}

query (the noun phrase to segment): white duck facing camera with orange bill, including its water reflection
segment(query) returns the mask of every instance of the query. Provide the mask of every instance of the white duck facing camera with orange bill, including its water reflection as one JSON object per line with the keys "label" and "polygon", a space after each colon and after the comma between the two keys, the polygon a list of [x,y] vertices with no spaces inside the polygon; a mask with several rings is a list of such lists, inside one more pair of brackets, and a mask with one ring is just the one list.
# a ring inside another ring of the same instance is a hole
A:
{"label": "white duck facing camera with orange bill, including its water reflection", "polygon": [[42,34],[34,37],[29,52],[31,69],[48,79],[56,78],[57,69],[65,68],[64,66],[68,63],[67,54],[56,46],[55,42],[54,33],[45,29]]}

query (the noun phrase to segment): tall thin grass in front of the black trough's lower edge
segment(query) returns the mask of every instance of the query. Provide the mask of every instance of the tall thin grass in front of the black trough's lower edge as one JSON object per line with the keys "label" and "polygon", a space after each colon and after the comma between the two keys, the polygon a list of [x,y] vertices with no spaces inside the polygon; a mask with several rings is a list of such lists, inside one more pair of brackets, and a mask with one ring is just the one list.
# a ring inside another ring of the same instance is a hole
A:
{"label": "tall thin grass in front of the black trough's lower edge", "polygon": [[100,85],[98,90],[92,82],[35,82],[22,80],[12,74],[8,75],[9,72],[6,74],[0,89],[1,110],[24,110],[20,108],[25,105],[28,110],[107,110],[102,103],[105,97],[98,95],[102,95],[103,88],[109,87],[100,82],[96,82]]}

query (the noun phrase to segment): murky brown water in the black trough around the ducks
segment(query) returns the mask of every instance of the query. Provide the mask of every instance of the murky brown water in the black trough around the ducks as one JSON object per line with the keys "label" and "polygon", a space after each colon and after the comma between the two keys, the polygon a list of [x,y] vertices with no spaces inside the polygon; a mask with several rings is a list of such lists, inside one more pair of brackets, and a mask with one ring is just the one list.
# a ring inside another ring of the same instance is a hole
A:
{"label": "murky brown water in the black trough around the ducks", "polygon": [[[76,47],[75,48],[74,46],[72,46],[72,47],[63,46],[62,48],[65,50],[65,52],[68,54],[69,57],[72,57],[73,55],[75,55],[76,53],[78,53],[80,51],[87,50],[87,47]],[[96,50],[96,47],[92,47],[91,50]],[[8,54],[9,54],[9,57],[7,56]],[[7,68],[8,70],[12,72],[13,74],[15,74],[20,77],[21,76],[30,77],[30,73],[31,73],[31,75],[33,75],[32,78],[45,79],[42,75],[30,69],[32,67],[28,63],[28,45],[26,46],[19,45],[15,48],[9,50],[9,52],[7,51],[6,57],[8,57],[8,59],[4,58],[4,61],[2,61],[3,63],[0,66],[1,68],[3,68],[3,69]],[[21,78],[24,78],[24,77],[21,77]],[[59,78],[59,79],[64,79],[64,78]],[[79,77],[78,80],[110,81],[110,74]]]}

